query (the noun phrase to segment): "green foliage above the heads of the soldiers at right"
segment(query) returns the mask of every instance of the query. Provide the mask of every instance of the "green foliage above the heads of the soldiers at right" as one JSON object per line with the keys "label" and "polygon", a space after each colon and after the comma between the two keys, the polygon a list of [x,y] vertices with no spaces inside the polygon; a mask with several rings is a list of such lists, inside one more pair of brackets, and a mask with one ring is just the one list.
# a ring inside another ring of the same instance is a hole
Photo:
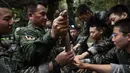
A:
{"label": "green foliage above the heads of the soldiers at right", "polygon": [[108,10],[110,7],[118,4],[118,0],[74,0],[74,6],[80,4],[88,5],[93,11]]}

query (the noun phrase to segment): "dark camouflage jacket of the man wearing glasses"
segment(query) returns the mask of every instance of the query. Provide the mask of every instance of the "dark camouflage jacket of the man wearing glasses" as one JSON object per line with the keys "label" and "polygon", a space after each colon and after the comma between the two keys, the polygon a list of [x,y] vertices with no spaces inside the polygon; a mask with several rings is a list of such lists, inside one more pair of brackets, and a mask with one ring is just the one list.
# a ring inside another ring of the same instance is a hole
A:
{"label": "dark camouflage jacket of the man wearing glasses", "polygon": [[112,73],[130,73],[130,53],[125,50],[111,49],[108,53],[93,58],[93,63],[110,64]]}

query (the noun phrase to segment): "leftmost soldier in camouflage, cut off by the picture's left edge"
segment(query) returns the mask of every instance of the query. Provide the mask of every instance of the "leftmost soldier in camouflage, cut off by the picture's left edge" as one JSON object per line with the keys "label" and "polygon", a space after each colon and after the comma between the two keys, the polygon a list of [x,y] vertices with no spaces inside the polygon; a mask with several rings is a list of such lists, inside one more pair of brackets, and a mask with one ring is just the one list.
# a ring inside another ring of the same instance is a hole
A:
{"label": "leftmost soldier in camouflage, cut off by the picture's left edge", "polygon": [[[3,35],[7,35],[12,31],[12,20],[11,11],[6,7],[6,5],[0,5],[0,73],[9,73],[10,68],[5,65],[5,58],[9,58],[7,50],[11,46],[11,41],[3,38]],[[8,41],[7,41],[8,40]],[[11,72],[10,72],[11,73]]]}

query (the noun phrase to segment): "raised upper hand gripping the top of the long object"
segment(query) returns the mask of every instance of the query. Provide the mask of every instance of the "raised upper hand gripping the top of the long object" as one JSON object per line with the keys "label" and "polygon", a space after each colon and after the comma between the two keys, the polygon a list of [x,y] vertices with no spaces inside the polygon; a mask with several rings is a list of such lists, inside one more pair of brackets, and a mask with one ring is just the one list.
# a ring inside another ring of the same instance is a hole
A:
{"label": "raised upper hand gripping the top of the long object", "polygon": [[60,14],[52,23],[51,36],[53,38],[64,36],[69,29],[67,14]]}

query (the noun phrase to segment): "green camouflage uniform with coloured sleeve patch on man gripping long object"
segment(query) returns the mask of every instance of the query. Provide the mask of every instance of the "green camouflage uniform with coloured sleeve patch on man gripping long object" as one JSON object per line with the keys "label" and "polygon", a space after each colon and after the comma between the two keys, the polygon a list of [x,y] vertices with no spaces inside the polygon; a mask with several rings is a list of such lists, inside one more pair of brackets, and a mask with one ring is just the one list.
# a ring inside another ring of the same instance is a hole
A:
{"label": "green camouflage uniform with coloured sleeve patch on man gripping long object", "polygon": [[[13,54],[13,70],[17,73],[49,73],[47,56],[56,43],[50,31],[33,24],[17,28],[15,31],[17,48]],[[39,66],[40,65],[40,66]]]}

